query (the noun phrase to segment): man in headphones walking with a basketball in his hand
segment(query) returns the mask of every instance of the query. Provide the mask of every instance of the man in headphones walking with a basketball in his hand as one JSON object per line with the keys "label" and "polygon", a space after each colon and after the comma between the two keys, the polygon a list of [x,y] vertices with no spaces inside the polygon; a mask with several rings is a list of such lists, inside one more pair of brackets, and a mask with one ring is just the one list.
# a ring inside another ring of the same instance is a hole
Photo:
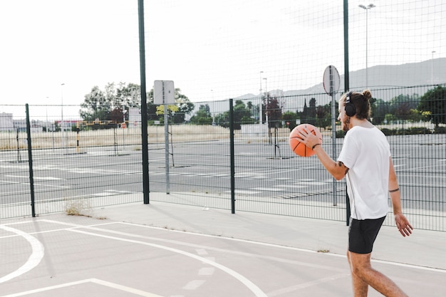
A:
{"label": "man in headphones walking with a basketball in his hand", "polygon": [[348,93],[339,100],[341,127],[348,131],[335,162],[308,129],[301,132],[302,142],[316,152],[326,170],[337,180],[346,177],[351,203],[347,259],[351,267],[353,293],[365,297],[368,286],[384,296],[407,296],[398,286],[372,268],[373,243],[388,213],[388,192],[393,204],[395,223],[401,235],[412,234],[413,227],[403,215],[398,180],[390,157],[390,145],[383,132],[368,121],[370,90]]}

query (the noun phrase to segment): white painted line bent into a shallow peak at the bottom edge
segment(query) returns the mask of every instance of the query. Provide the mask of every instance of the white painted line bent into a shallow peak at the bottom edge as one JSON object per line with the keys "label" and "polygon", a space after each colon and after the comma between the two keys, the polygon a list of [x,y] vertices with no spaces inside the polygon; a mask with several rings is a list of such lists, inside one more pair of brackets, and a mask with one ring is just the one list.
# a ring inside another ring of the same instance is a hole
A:
{"label": "white painted line bent into a shallow peak at the bottom edge", "polygon": [[26,295],[33,294],[33,293],[41,293],[41,292],[45,292],[45,291],[56,290],[58,288],[65,288],[65,287],[68,287],[68,286],[81,285],[83,283],[96,283],[96,284],[101,285],[101,286],[106,286],[106,287],[109,287],[109,288],[115,288],[115,289],[120,290],[120,291],[124,291],[124,292],[127,292],[127,293],[133,293],[135,295],[143,296],[143,297],[163,297],[163,296],[156,295],[156,294],[153,294],[153,293],[148,293],[148,292],[145,292],[145,291],[141,291],[141,290],[138,290],[136,288],[130,288],[128,286],[123,286],[123,285],[120,285],[118,283],[111,283],[110,281],[103,281],[103,280],[98,279],[98,278],[88,278],[88,279],[83,279],[82,281],[72,281],[71,283],[61,283],[60,285],[56,285],[56,286],[48,286],[48,287],[45,287],[45,288],[36,288],[35,290],[24,291],[24,292],[20,292],[20,293],[14,293],[14,294],[5,295],[5,296],[1,296],[1,297],[26,296]]}

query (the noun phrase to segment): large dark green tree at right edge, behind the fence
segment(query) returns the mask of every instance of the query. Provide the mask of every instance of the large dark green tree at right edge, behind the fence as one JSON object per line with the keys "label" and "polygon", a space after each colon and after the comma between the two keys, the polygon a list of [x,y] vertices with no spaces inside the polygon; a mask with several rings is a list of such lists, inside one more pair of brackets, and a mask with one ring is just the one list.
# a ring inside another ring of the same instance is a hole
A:
{"label": "large dark green tree at right edge, behind the fence", "polygon": [[438,128],[439,124],[446,124],[446,88],[438,85],[422,95],[418,110],[427,115]]}

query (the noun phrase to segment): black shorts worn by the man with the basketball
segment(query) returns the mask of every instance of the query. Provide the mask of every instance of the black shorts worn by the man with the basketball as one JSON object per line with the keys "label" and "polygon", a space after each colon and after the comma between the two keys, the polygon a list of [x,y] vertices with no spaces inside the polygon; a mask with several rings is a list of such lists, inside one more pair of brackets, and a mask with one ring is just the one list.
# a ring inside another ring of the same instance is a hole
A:
{"label": "black shorts worn by the man with the basketball", "polygon": [[380,219],[351,219],[348,229],[348,251],[356,254],[369,254],[380,231],[385,217]]}

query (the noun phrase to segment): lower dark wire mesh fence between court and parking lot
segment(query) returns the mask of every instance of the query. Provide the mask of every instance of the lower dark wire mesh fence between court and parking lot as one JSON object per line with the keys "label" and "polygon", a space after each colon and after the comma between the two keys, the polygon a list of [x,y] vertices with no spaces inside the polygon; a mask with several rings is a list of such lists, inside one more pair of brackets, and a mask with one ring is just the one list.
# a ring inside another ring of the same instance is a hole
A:
{"label": "lower dark wire mesh fence between court and parking lot", "polygon": [[[373,90],[371,120],[390,142],[405,214],[417,228],[446,231],[446,97],[426,95],[432,90]],[[345,181],[335,181],[317,157],[297,157],[288,143],[294,126],[313,123],[324,149],[336,159],[343,132],[332,137],[327,97],[234,100],[232,117],[232,100],[196,103],[210,124],[192,124],[197,118],[188,118],[189,123],[169,123],[168,132],[160,116],[147,129],[150,192],[170,193],[162,196],[164,202],[345,221]],[[423,104],[425,111],[418,110]],[[31,115],[33,109],[30,105]],[[142,202],[144,148],[138,123],[50,118],[31,119],[26,127],[24,119],[1,115],[1,218],[88,214],[93,207]],[[386,224],[393,224],[391,214]]]}

